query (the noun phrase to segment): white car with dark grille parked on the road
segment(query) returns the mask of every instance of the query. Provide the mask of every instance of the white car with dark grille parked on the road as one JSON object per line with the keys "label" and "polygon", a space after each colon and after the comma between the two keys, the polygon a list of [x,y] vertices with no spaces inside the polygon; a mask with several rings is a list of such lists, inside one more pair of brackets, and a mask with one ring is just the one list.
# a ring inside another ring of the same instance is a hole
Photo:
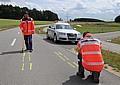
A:
{"label": "white car with dark grille parked on the road", "polygon": [[81,38],[81,33],[73,29],[70,24],[58,22],[47,29],[47,38],[58,41],[78,42]]}

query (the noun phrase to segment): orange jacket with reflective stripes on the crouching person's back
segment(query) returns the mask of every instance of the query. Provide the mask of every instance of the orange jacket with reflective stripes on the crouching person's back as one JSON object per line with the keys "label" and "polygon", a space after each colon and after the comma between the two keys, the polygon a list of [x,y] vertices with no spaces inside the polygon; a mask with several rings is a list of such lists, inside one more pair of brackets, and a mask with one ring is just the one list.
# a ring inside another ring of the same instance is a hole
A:
{"label": "orange jacket with reflective stripes on the crouching person's back", "polygon": [[79,42],[79,45],[83,67],[88,71],[101,72],[104,61],[100,41],[98,39],[83,39]]}

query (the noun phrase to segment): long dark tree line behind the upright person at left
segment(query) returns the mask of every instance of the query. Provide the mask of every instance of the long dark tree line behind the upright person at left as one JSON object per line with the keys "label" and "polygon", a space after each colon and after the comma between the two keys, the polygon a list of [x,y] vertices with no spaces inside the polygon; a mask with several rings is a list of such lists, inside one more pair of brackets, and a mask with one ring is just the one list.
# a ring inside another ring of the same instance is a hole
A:
{"label": "long dark tree line behind the upright person at left", "polygon": [[0,18],[21,19],[26,11],[34,20],[41,21],[58,20],[58,15],[49,10],[39,11],[35,8],[30,10],[27,7],[20,8],[19,6],[13,7],[12,5],[0,5]]}

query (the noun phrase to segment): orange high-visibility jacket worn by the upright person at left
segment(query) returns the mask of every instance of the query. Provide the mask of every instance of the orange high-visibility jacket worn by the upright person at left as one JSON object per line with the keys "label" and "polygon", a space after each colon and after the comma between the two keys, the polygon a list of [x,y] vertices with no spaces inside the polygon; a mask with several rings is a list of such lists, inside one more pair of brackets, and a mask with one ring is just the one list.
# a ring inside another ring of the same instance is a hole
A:
{"label": "orange high-visibility jacket worn by the upright person at left", "polygon": [[21,23],[19,25],[22,30],[23,35],[32,35],[34,34],[34,21],[32,18],[29,19],[21,19]]}

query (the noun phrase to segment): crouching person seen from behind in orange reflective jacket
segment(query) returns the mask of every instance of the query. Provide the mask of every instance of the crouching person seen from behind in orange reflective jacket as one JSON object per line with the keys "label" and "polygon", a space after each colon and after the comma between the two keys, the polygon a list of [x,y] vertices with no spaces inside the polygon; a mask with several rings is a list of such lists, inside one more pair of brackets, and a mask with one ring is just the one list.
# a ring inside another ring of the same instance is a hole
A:
{"label": "crouching person seen from behind in orange reflective jacket", "polygon": [[92,73],[91,78],[99,83],[100,72],[104,67],[104,61],[101,54],[101,41],[92,37],[90,32],[83,34],[76,50],[78,51],[78,72],[81,78],[84,78],[84,69]]}

